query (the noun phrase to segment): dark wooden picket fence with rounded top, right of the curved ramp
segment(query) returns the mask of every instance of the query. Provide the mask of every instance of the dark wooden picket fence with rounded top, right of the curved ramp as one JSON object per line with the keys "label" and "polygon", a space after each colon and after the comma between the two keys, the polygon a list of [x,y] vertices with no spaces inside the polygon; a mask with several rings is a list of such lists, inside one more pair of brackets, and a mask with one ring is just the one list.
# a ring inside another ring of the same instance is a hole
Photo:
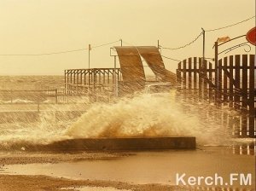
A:
{"label": "dark wooden picket fence with rounded top, right of the curved ramp", "polygon": [[239,119],[224,116],[224,124],[235,136],[256,137],[255,130],[255,55],[230,55],[214,65],[201,58],[178,63],[177,89],[183,99],[210,101],[230,107]]}

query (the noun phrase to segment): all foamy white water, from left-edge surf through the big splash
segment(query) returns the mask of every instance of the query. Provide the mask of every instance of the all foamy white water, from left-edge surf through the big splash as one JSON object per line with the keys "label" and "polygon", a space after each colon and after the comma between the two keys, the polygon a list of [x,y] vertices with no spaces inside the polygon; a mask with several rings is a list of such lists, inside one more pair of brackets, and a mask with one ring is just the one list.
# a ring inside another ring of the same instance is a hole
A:
{"label": "all foamy white water, from left-edge surf through the big splash", "polygon": [[[207,111],[221,113],[209,103],[189,104],[174,96],[140,95],[115,103],[94,103],[77,121],[56,121],[41,113],[38,122],[0,124],[0,144],[48,144],[88,137],[195,136],[203,145],[226,145],[226,128]],[[25,147],[26,148],[26,147]]]}

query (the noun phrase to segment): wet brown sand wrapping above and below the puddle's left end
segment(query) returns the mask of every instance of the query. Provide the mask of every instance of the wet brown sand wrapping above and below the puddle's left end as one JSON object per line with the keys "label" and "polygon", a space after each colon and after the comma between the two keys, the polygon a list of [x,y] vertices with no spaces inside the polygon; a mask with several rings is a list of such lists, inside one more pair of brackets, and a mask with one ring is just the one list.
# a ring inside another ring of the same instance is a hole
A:
{"label": "wet brown sand wrapping above and below the puddle's left end", "polygon": [[[128,190],[184,190],[175,186],[160,184],[129,184],[126,182],[71,180],[63,177],[26,176],[3,174],[6,165],[55,164],[83,160],[119,159],[134,153],[0,153],[0,190],[1,191],[35,191],[35,190],[78,190],[80,187],[113,187]],[[62,188],[62,189],[61,189]]]}

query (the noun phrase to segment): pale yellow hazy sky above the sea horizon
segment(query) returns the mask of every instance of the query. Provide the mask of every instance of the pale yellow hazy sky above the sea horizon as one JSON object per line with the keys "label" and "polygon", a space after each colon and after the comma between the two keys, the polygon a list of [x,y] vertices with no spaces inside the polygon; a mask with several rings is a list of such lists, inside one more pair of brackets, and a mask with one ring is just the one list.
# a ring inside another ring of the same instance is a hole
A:
{"label": "pale yellow hazy sky above the sea horizon", "polygon": [[[0,75],[63,74],[68,68],[87,68],[88,51],[41,54],[87,48],[124,40],[124,45],[175,48],[189,43],[201,27],[218,28],[255,15],[255,0],[0,0]],[[206,33],[206,56],[219,37],[235,38],[255,26],[255,19]],[[126,43],[125,43],[126,42]],[[241,43],[245,39],[241,39]],[[113,67],[109,48],[90,51],[91,67]],[[162,50],[177,60],[202,55],[202,39],[185,49]],[[237,49],[231,54],[244,54]],[[254,54],[254,49],[251,51]],[[176,61],[164,60],[175,71]]]}

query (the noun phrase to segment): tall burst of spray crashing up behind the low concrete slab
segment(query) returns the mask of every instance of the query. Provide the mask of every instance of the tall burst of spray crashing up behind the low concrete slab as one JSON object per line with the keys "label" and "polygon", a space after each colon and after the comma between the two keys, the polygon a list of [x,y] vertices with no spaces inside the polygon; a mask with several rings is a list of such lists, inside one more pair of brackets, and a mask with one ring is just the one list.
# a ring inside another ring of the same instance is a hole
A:
{"label": "tall burst of spray crashing up behind the low concrete slab", "polygon": [[95,104],[65,134],[72,138],[195,136],[201,144],[226,144],[225,128],[207,118],[206,108],[219,112],[208,103],[174,101],[169,94],[141,95],[114,104]]}

